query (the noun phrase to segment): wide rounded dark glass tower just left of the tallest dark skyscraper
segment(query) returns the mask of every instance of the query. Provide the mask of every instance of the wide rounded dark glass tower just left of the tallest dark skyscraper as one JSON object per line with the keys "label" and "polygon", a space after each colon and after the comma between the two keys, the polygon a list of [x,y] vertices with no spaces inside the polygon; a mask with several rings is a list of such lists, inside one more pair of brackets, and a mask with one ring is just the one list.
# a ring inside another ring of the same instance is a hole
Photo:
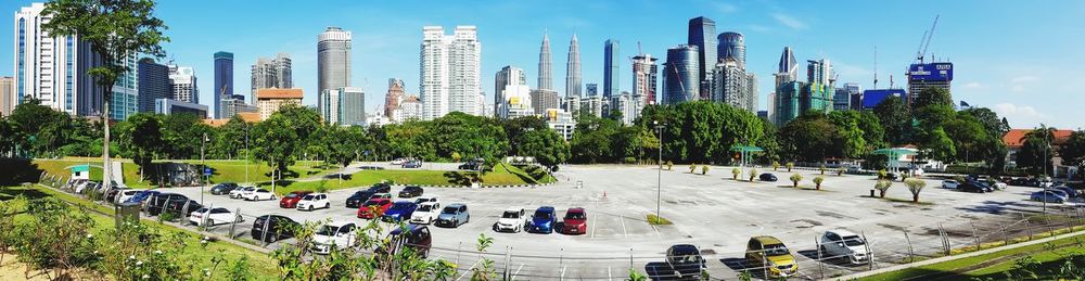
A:
{"label": "wide rounded dark glass tower just left of the tallest dark skyscraper", "polygon": [[698,53],[698,47],[692,44],[667,49],[667,62],[663,66],[663,104],[701,99],[697,80]]}

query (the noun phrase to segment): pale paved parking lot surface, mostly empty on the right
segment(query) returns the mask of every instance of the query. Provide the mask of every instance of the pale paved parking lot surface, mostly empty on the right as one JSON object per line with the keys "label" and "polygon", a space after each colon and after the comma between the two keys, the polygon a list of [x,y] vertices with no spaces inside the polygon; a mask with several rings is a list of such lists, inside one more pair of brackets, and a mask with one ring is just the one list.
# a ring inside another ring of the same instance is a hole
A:
{"label": "pale paved parking lot surface, mostly empty on the right", "polygon": [[[507,268],[514,279],[622,279],[628,276],[630,267],[652,274],[653,270],[665,267],[661,263],[668,246],[693,244],[707,259],[706,270],[714,278],[733,279],[746,269],[742,258],[749,239],[774,235],[795,253],[801,276],[816,278],[826,270],[834,276],[868,267],[817,263],[810,266],[809,260],[817,258],[815,239],[825,230],[845,228],[863,233],[878,261],[873,266],[881,267],[899,263],[901,256],[909,253],[904,242],[905,231],[910,233],[907,239],[914,244],[911,252],[930,253],[941,246],[936,240],[940,222],[984,229],[1013,223],[1022,214],[1041,209],[1039,203],[1027,201],[1034,188],[1009,187],[1005,191],[976,194],[940,189],[940,180],[924,179],[928,188],[920,194],[924,203],[912,204],[868,197],[873,176],[826,175],[822,190],[815,191],[810,180],[819,176],[817,171],[796,171],[804,177],[801,183],[804,189],[794,189],[788,181],[792,173],[783,169],[774,173],[771,168],[758,168],[776,174],[780,178],[777,182],[731,180],[730,167],[713,167],[706,176],[681,169],[675,167],[662,173],[662,192],[654,167],[613,165],[563,166],[556,175],[559,183],[534,189],[427,188],[425,196],[436,196],[443,205],[464,203],[471,214],[470,222],[459,228],[431,228],[434,235],[431,256],[456,261],[459,270],[465,272],[478,259],[477,254],[470,252],[478,234],[485,233],[494,238],[490,252],[496,253],[488,258],[497,261],[499,272]],[[203,200],[204,205],[240,208],[247,217],[234,231],[247,235],[252,218],[267,214],[285,215],[298,221],[361,222],[355,216],[357,209],[346,208],[344,201],[363,188],[332,191],[332,207],[314,212],[279,208],[278,201],[244,202],[210,194],[204,194]],[[393,194],[400,188],[393,188]],[[200,200],[200,188],[173,191]],[[674,225],[651,226],[646,219],[646,215],[655,213],[660,194],[661,214]],[[910,201],[911,193],[896,182],[886,197]],[[497,233],[492,229],[506,208],[523,207],[532,213],[544,205],[554,206],[559,218],[566,208],[584,207],[588,214],[587,233]],[[1055,210],[1068,206],[1076,207],[1076,203],[1050,207]],[[227,233],[229,228],[222,225],[210,231]],[[950,235],[950,243],[961,245],[973,239]]]}

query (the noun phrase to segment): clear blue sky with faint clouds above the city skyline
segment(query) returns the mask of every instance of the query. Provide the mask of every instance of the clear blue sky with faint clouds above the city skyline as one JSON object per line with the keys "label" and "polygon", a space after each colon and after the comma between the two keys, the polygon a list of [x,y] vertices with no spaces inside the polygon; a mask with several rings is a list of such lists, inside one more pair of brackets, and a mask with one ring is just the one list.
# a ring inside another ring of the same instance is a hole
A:
{"label": "clear blue sky with faint clouds above the city skyline", "polygon": [[[14,14],[28,0],[4,0]],[[494,76],[506,65],[523,68],[536,86],[542,34],[550,36],[554,88],[564,93],[569,40],[580,43],[585,84],[602,84],[603,41],[621,42],[621,88],[631,88],[628,58],[639,52],[665,60],[687,42],[689,18],[706,16],[716,31],[745,36],[746,65],[758,77],[761,108],[773,91],[783,47],[800,69],[828,59],[838,84],[906,87],[924,31],[940,16],[928,53],[954,63],[953,98],[990,107],[1014,128],[1045,124],[1077,129],[1085,123],[1085,1],[284,1],[167,0],[156,15],[170,42],[166,61],[191,66],[200,101],[212,103],[213,54],[234,53],[234,91],[248,95],[250,67],[259,56],[286,52],[305,104],[316,104],[317,36],[328,26],[353,33],[352,86],[366,91],[366,111],[384,104],[388,78],[417,94],[422,27],[474,25],[482,42],[482,90],[493,103]],[[14,25],[13,21],[9,21]],[[0,28],[0,75],[13,68],[14,28]],[[877,68],[875,49],[877,48]],[[639,49],[639,51],[638,51]],[[662,67],[661,67],[662,68]],[[801,72],[802,79],[805,73]],[[660,74],[662,87],[662,74]],[[601,90],[601,89],[600,89]]]}

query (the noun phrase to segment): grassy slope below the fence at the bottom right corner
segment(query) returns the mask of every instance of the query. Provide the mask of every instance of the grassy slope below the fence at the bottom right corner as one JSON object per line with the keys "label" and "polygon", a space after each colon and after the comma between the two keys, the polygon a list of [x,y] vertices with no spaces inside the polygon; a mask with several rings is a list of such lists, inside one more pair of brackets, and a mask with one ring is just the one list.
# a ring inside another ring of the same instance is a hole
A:
{"label": "grassy slope below the fence at the bottom right corner", "polygon": [[[1063,247],[1062,251],[1073,251],[1073,252],[1078,252],[1078,253],[1085,252],[1085,246],[1082,246],[1081,244],[1078,244],[1075,241],[1075,239],[1085,241],[1085,234],[1080,234],[1080,235],[1075,235],[1075,237],[1059,239],[1059,240],[1050,242],[1050,244],[1055,245],[1056,247]],[[1034,253],[1034,252],[1035,252],[1035,254],[1030,254],[1030,253]],[[967,257],[967,258],[960,258],[960,259],[954,259],[954,260],[949,260],[949,261],[939,263],[939,264],[934,264],[934,265],[928,265],[928,266],[922,266],[922,267],[915,267],[915,268],[908,268],[908,269],[903,269],[903,270],[897,270],[897,271],[885,272],[885,273],[881,273],[881,274],[877,274],[877,276],[866,277],[866,278],[863,278],[860,280],[903,280],[903,279],[908,279],[908,278],[919,278],[919,277],[922,277],[922,276],[926,276],[926,274],[941,273],[941,272],[952,272],[952,271],[955,271],[955,270],[958,270],[958,269],[961,269],[961,268],[966,268],[966,267],[970,267],[970,266],[973,266],[973,265],[976,265],[976,264],[980,264],[980,263],[983,263],[983,261],[993,260],[993,259],[1000,258],[1000,257],[1006,257],[1006,256],[1017,256],[1017,255],[1022,255],[1021,257],[1023,257],[1023,255],[1032,255],[1034,258],[1037,258],[1037,259],[1043,258],[1043,259],[1041,259],[1041,261],[1050,261],[1050,260],[1057,260],[1057,259],[1061,258],[1061,256],[1058,256],[1055,253],[1050,253],[1049,251],[1047,251],[1046,246],[1044,244],[1034,244],[1034,245],[1027,245],[1027,246],[1018,247],[1018,248],[998,251],[998,252],[986,254],[986,255],[979,255],[979,256],[973,256],[973,257]],[[1006,261],[998,263],[996,265],[992,265],[991,267],[982,268],[982,269],[979,269],[979,270],[973,270],[973,271],[963,272],[963,273],[950,273],[949,276],[943,277],[942,279],[943,280],[961,280],[961,279],[968,280],[968,279],[971,279],[973,277],[980,277],[980,278],[984,278],[984,279],[988,278],[988,277],[990,278],[994,278],[994,279],[1004,278],[1004,276],[1001,274],[1001,272],[1005,271],[1005,270],[1008,270],[1008,269],[1012,268],[1014,259],[1017,259],[1017,257],[1010,258],[1010,259],[1008,259]]]}

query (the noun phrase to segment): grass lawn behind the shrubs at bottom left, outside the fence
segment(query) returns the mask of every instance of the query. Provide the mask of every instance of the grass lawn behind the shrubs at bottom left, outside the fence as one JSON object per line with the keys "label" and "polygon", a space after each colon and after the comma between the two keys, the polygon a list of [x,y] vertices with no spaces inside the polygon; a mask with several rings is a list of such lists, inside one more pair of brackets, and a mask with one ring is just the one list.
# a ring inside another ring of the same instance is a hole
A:
{"label": "grass lawn behind the shrubs at bottom left, outside the fence", "polygon": [[[47,188],[41,188],[41,187],[30,187],[30,188],[7,187],[7,188],[2,188],[2,190],[0,190],[0,204],[4,204],[5,201],[8,201],[8,200],[10,200],[10,199],[12,199],[12,197],[14,197],[15,195],[18,195],[18,194],[23,194],[24,196],[26,196],[28,199],[37,199],[37,197],[44,197],[44,196],[58,196],[58,197],[60,197],[60,199],[62,199],[64,201],[76,203],[76,204],[79,204],[79,205],[98,206],[98,207],[107,209],[108,210],[107,214],[113,214],[113,209],[112,208],[104,207],[104,206],[99,206],[99,205],[92,204],[92,203],[90,203],[88,201],[85,201],[82,199],[79,199],[77,196],[59,193],[59,192],[52,191],[52,190],[47,189]],[[110,217],[110,216],[102,216],[102,215],[97,214],[97,213],[90,213],[90,214],[91,214],[91,217],[94,219],[94,222],[95,222],[94,223],[94,231],[98,231],[98,233],[102,233],[104,230],[114,227],[114,220],[113,220],[112,217]],[[25,216],[25,215],[18,215],[18,216]],[[16,216],[16,219],[21,219],[21,217],[18,217],[18,216]],[[26,219],[26,217],[23,217],[22,219]],[[183,230],[179,230],[179,229],[175,228],[174,226],[162,225],[159,222],[153,222],[153,221],[143,220],[143,223],[146,223],[146,225],[152,226],[152,227],[156,227],[156,228],[158,228],[162,231],[171,231],[171,232],[186,233],[186,235],[188,235],[188,238],[189,238],[188,242],[189,242],[189,245],[190,245],[186,250],[186,254],[192,255],[192,256],[196,257],[196,260],[202,260],[203,264],[197,265],[201,268],[209,268],[210,265],[212,265],[210,264],[210,259],[212,259],[212,257],[215,257],[215,256],[222,256],[222,257],[225,257],[229,261],[237,260],[238,258],[241,258],[241,256],[247,256],[248,257],[248,265],[250,265],[250,268],[251,268],[251,272],[253,273],[253,277],[256,280],[273,280],[273,279],[278,279],[278,277],[279,277],[279,271],[278,271],[278,268],[276,267],[275,260],[272,260],[266,254],[258,253],[258,252],[253,252],[253,251],[250,251],[247,248],[244,248],[244,247],[241,247],[241,246],[238,246],[238,245],[233,245],[233,244],[230,244],[230,243],[227,243],[227,242],[212,242],[212,243],[208,244],[208,246],[206,248],[202,248],[202,247],[199,246],[201,237],[197,235],[197,234],[194,234],[194,233],[191,233],[191,232],[188,232],[188,231],[183,231]],[[222,265],[220,265],[217,268],[217,272],[215,272],[215,276],[216,277],[225,277],[226,276],[226,267],[222,266]]]}

